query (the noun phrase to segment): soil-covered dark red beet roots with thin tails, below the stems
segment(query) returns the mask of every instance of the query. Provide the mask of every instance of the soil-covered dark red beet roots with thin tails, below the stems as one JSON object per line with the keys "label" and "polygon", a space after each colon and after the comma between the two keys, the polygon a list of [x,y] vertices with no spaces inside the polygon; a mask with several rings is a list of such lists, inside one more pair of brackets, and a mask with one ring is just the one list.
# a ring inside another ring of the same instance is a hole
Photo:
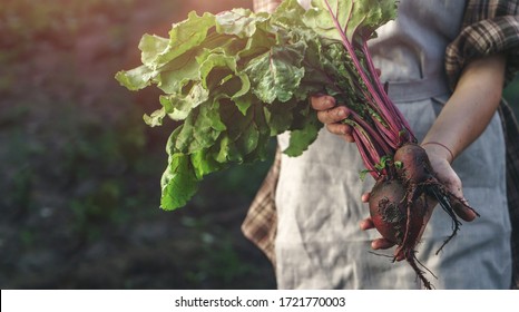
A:
{"label": "soil-covered dark red beet roots with thin tails, below the stems", "polygon": [[395,175],[381,176],[374,185],[369,202],[371,218],[380,234],[398,245],[394,260],[405,259],[423,285],[431,289],[424,271],[419,267],[414,250],[427,213],[438,202],[452,218],[452,234],[440,246],[438,254],[461,225],[452,207],[467,204],[435,178],[425,150],[417,144],[408,143],[400,147],[389,166],[388,172]]}

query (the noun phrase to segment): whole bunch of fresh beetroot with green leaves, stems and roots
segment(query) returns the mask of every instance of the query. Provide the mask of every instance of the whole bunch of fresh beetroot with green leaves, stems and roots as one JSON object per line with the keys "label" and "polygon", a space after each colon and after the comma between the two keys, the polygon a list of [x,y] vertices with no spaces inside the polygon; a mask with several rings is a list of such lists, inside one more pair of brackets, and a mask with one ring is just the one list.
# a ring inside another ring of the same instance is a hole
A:
{"label": "whole bunch of fresh beetroot with green leaves, stems and roots", "polygon": [[452,217],[447,244],[460,225],[452,207],[463,202],[434,177],[370,57],[366,42],[395,17],[395,2],[313,0],[304,10],[285,0],[272,14],[192,12],[173,25],[169,38],[145,35],[143,65],[116,78],[130,90],[156,85],[164,92],[161,108],[145,116],[150,126],[175,120],[160,206],[186,205],[210,173],[264,159],[270,138],[284,131],[291,131],[284,153],[301,155],[322,127],[307,98],[329,94],[347,104],[344,123],[376,181],[370,196],[375,227],[398,244],[395,259],[405,259],[431,287],[414,255],[425,218],[437,202]]}

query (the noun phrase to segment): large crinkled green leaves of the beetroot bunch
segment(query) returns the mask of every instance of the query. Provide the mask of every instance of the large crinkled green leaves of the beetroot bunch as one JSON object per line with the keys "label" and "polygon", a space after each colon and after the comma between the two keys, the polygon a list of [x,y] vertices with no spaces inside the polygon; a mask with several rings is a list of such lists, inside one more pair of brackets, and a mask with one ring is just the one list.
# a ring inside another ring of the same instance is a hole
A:
{"label": "large crinkled green leaves of the beetroot bunch", "polygon": [[394,14],[394,0],[314,0],[307,11],[285,0],[272,14],[190,12],[169,38],[144,35],[143,65],[116,79],[129,90],[155,85],[163,91],[160,107],[144,116],[148,125],[177,120],[166,146],[160,206],[186,205],[208,174],[265,159],[271,137],[284,131],[291,131],[284,153],[304,153],[322,127],[310,95],[365,100],[355,66],[369,62],[359,51],[360,60],[350,57],[344,37],[356,47]]}

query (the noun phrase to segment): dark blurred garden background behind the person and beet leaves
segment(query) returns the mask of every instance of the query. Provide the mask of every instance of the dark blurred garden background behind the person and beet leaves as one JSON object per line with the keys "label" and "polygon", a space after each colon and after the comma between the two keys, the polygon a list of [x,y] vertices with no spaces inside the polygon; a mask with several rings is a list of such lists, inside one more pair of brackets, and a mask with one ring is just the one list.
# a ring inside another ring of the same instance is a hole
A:
{"label": "dark blurred garden background behind the person and beet leaves", "polygon": [[[233,7],[252,0],[1,1],[2,289],[275,287],[239,231],[270,162],[210,176],[187,207],[159,209],[170,129],[143,121],[158,91],[114,79],[139,64],[143,33]],[[506,90],[515,104],[518,86]]]}

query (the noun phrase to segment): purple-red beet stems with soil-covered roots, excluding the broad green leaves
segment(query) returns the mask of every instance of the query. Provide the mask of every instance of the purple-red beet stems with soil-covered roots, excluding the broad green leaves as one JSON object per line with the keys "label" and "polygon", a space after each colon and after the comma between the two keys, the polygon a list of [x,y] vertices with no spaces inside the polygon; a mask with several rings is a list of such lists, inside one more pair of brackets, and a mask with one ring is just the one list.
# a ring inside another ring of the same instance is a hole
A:
{"label": "purple-red beet stems with soil-covered roots, excluding the broad green leaves", "polygon": [[351,12],[363,1],[346,1],[351,2],[343,3],[351,6],[347,10],[341,6],[341,1],[317,2],[324,2],[336,35],[351,57],[352,70],[360,78],[356,99],[345,99],[351,111],[344,123],[353,128],[365,172],[376,181],[369,199],[373,224],[385,240],[398,245],[394,260],[407,260],[424,286],[431,289],[424,271],[419,266],[415,246],[432,207],[439,203],[452,218],[452,234],[437,254],[460,228],[454,205],[472,208],[438,181],[425,150],[417,144],[405,118],[389,99],[368,49],[366,41],[372,33],[361,31],[352,35],[349,25],[344,25],[345,11],[352,16]]}

